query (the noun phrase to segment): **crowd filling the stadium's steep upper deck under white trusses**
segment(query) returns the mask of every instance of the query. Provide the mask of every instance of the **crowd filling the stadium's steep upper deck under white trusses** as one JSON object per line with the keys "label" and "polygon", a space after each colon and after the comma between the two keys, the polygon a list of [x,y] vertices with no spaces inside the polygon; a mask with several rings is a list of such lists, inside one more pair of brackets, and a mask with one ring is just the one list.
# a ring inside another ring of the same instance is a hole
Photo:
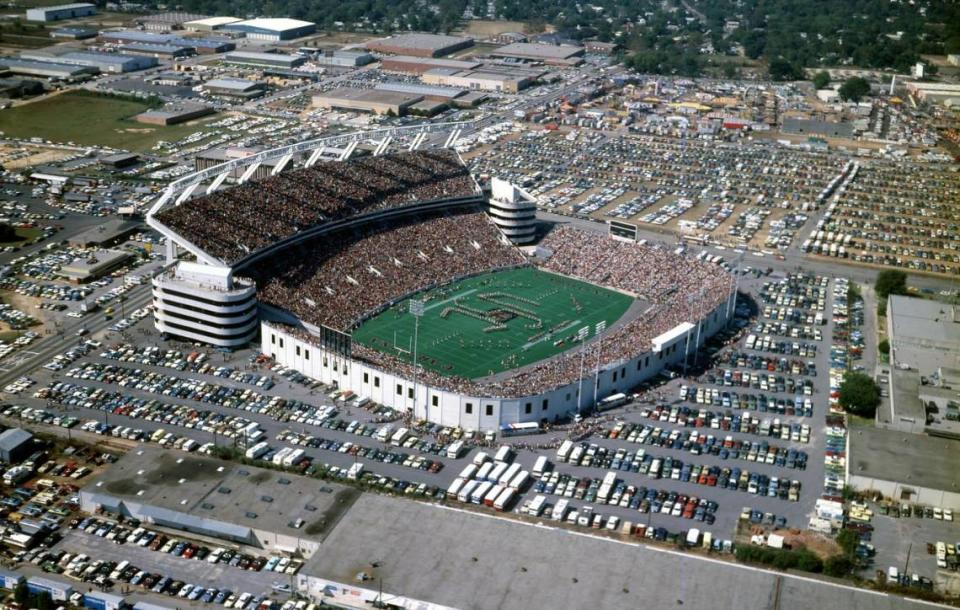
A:
{"label": "crowd filling the stadium's steep upper deck under white trusses", "polygon": [[424,150],[281,172],[172,206],[156,219],[231,264],[324,222],[475,192],[456,152]]}

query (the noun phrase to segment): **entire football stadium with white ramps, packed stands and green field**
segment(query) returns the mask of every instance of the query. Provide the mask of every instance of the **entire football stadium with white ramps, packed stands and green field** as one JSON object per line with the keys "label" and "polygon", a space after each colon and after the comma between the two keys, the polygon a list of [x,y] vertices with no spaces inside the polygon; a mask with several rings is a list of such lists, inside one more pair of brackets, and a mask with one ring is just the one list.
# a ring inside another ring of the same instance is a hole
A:
{"label": "entire football stadium with white ramps, packed stands and green field", "polygon": [[[341,135],[173,183],[148,214],[168,238],[157,328],[223,348],[259,340],[340,390],[501,430],[592,409],[726,325],[733,276],[536,226],[529,194],[471,175],[452,148],[464,128]],[[251,179],[261,164],[272,172]]]}

